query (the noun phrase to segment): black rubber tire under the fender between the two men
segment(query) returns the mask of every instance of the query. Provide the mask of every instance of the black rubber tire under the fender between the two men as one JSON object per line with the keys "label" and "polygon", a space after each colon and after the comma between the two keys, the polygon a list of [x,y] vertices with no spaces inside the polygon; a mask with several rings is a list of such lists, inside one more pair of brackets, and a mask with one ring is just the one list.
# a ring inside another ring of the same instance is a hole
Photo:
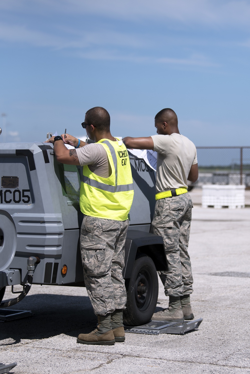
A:
{"label": "black rubber tire under the fender between the two men", "polygon": [[[147,287],[147,292],[138,295],[138,286]],[[152,258],[141,253],[135,258],[131,278],[125,280],[127,304],[123,313],[124,324],[144,325],[150,321],[158,300],[158,276]]]}

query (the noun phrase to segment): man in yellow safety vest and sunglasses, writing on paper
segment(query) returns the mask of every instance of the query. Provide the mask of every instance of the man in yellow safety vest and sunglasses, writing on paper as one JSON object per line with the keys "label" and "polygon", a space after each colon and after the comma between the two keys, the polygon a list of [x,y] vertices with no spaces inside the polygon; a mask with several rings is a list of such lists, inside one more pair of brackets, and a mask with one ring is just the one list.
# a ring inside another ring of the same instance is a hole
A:
{"label": "man in yellow safety vest and sunglasses, writing on paper", "polygon": [[[125,340],[122,314],[126,289],[122,269],[134,195],[132,174],[126,147],[121,139],[111,135],[110,116],[104,108],[88,110],[82,126],[95,143],[87,144],[68,134],[49,141],[54,143],[59,162],[83,166],[80,247],[85,286],[98,327],[89,334],[80,334],[77,342],[111,345]],[[64,143],[76,149],[68,150]]]}

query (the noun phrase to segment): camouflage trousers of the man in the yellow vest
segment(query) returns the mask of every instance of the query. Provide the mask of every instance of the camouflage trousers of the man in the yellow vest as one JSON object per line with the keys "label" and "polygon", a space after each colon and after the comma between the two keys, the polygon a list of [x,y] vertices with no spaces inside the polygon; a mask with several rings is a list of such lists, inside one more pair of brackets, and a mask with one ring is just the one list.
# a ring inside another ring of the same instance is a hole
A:
{"label": "camouflage trousers of the man in the yellow vest", "polygon": [[126,289],[122,276],[128,220],[115,221],[85,215],[80,248],[85,286],[95,315],[125,309]]}

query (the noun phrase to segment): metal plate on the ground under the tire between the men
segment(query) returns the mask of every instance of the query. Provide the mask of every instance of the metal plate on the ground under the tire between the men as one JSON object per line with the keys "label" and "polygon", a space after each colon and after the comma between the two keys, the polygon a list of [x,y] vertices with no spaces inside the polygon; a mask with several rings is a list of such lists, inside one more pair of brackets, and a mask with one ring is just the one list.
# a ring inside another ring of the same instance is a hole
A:
{"label": "metal plate on the ground under the tire between the men", "polygon": [[124,326],[125,332],[133,332],[134,334],[185,334],[199,327],[202,318],[193,321],[182,322],[168,322],[168,321],[150,321],[149,323],[141,326]]}

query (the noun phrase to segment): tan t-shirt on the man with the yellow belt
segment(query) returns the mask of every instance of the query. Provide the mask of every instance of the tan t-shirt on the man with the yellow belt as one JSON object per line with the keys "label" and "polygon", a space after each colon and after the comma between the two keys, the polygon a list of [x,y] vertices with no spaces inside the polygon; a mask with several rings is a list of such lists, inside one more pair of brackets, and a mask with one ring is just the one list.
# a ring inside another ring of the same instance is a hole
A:
{"label": "tan t-shirt on the man with the yellow belt", "polygon": [[187,188],[187,177],[197,163],[192,141],[180,134],[152,135],[157,152],[156,193],[180,187]]}

